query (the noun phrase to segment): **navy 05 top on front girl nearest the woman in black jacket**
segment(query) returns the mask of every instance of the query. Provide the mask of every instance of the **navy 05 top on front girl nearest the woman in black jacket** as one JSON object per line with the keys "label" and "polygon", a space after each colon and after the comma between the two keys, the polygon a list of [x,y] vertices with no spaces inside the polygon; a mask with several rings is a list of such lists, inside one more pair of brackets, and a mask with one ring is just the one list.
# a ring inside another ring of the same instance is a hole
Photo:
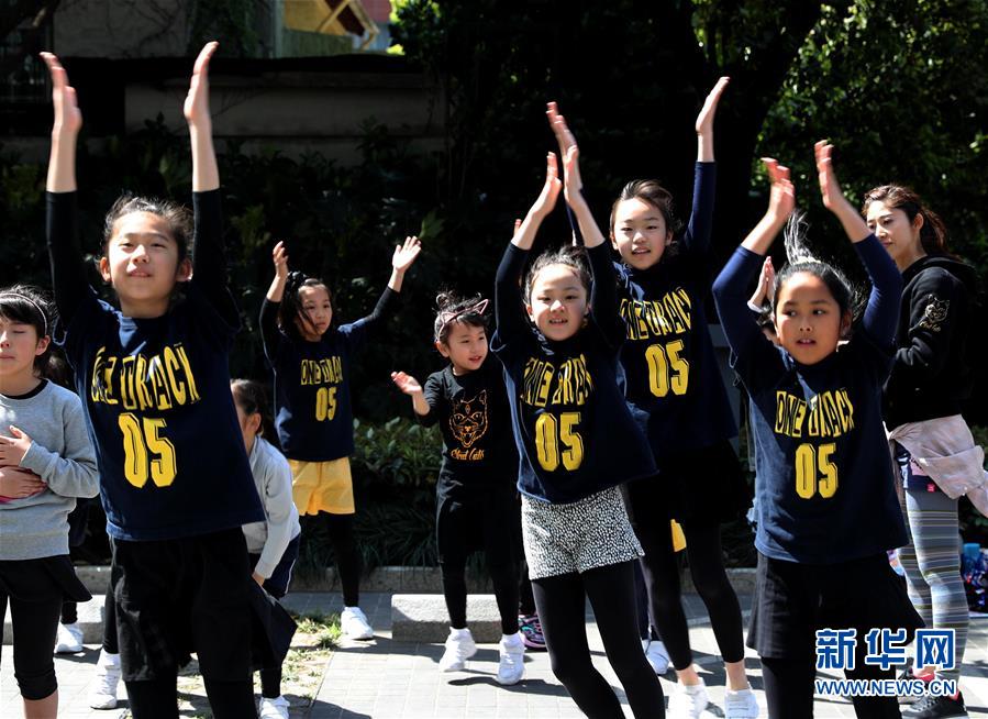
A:
{"label": "navy 05 top on front girl nearest the woman in black jacket", "polygon": [[868,306],[851,342],[813,365],[766,340],[747,308],[762,255],[739,247],[713,285],[752,400],[755,546],[776,560],[835,564],[906,544],[881,423],[902,281],[874,235],[854,246],[872,279]]}

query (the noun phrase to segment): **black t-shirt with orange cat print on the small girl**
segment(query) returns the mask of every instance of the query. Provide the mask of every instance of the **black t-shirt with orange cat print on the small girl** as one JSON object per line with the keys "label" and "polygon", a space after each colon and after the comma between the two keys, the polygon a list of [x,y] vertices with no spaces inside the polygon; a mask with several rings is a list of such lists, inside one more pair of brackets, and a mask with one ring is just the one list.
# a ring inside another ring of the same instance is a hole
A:
{"label": "black t-shirt with orange cat print on the small girl", "polygon": [[476,372],[454,375],[453,366],[433,373],[423,388],[430,412],[419,421],[439,422],[443,433],[443,465],[437,491],[518,480],[518,450],[511,434],[511,410],[501,367],[492,357]]}

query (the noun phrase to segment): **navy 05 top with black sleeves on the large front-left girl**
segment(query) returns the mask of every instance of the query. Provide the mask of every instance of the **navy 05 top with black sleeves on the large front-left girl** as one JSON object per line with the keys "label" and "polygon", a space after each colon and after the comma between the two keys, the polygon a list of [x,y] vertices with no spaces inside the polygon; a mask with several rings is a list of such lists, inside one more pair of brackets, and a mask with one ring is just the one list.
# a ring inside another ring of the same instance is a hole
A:
{"label": "navy 05 top with black sleeves on the large front-left girl", "polygon": [[136,319],[86,283],[76,193],[47,193],[65,352],[116,539],[178,539],[264,520],[230,394],[240,314],[226,286],[219,190],[196,192],[193,210],[192,279],[165,314]]}

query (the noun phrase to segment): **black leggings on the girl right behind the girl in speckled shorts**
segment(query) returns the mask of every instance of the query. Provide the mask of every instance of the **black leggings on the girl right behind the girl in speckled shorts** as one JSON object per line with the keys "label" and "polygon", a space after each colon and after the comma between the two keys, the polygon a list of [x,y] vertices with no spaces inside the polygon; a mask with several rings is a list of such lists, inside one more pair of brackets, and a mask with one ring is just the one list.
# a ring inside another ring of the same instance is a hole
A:
{"label": "black leggings on the girl right behind the girl in speckled shorts", "polygon": [[[642,569],[652,602],[652,617],[669,652],[673,666],[682,671],[692,664],[689,626],[682,610],[679,562],[673,551],[673,533],[668,517],[653,512],[642,517],[635,507],[634,530],[645,550]],[[692,520],[682,523],[686,552],[693,585],[710,615],[710,624],[724,662],[744,659],[744,630],[741,605],[724,571],[720,524]]]}

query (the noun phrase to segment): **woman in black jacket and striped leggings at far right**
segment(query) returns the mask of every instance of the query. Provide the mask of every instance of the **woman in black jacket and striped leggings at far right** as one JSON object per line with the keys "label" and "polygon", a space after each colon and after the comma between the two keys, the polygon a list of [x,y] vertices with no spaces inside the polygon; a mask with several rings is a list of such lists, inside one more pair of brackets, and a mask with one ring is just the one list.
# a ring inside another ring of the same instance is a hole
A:
{"label": "woman in black jacket and striped leggings at far right", "polygon": [[[903,279],[896,358],[882,397],[910,539],[899,561],[926,627],[953,629],[956,641],[952,668],[915,666],[913,674],[957,681],[968,624],[957,501],[968,495],[984,511],[986,482],[984,452],[961,416],[974,385],[968,335],[976,275],[947,252],[943,222],[911,189],[876,187],[865,196],[864,214]],[[954,696],[923,698],[902,716],[967,714],[958,687]]]}

